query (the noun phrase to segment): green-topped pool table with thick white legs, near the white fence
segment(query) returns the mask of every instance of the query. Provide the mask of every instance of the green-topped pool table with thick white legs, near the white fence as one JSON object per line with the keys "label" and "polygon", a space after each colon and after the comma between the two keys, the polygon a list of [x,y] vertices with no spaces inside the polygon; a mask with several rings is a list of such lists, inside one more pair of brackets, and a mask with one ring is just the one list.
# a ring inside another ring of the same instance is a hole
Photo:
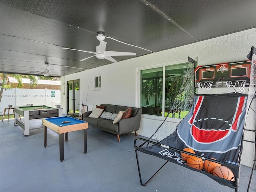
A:
{"label": "green-topped pool table with thick white legs, near the white fence", "polygon": [[[24,129],[23,136],[29,136],[29,120],[62,116],[62,108],[54,108],[45,105],[14,107],[15,125]],[[22,115],[23,120],[19,119]]]}

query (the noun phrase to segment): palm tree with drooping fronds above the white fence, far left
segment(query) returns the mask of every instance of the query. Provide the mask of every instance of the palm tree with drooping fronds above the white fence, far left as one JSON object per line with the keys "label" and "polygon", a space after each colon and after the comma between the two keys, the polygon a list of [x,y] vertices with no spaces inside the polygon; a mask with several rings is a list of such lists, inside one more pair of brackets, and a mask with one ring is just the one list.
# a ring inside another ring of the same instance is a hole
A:
{"label": "palm tree with drooping fronds above the white fence, far left", "polygon": [[4,91],[4,83],[8,77],[13,77],[18,81],[18,88],[22,88],[22,78],[29,78],[30,79],[30,85],[35,87],[37,86],[37,78],[34,75],[20,75],[20,74],[8,74],[8,73],[0,73],[0,78],[3,79],[1,91],[0,91],[0,102],[2,100],[2,95]]}

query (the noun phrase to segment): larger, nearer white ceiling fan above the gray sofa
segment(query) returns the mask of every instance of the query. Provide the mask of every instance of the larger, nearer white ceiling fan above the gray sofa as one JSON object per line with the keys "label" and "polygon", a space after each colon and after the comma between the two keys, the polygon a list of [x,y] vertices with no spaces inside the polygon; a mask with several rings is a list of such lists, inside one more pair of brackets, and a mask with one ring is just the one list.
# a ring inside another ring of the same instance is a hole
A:
{"label": "larger, nearer white ceiling fan above the gray sofa", "polygon": [[[136,53],[132,53],[132,52],[106,51],[107,42],[104,41],[105,40],[104,34],[103,33],[98,33],[98,35],[96,37],[100,41],[100,44],[98,46],[96,46],[96,51],[95,52],[94,51],[71,49],[71,48],[64,48],[64,47],[62,49],[69,49],[69,50],[92,53],[92,54],[95,54],[94,56],[96,56],[96,58],[98,58],[98,59],[107,59],[107,60],[109,60],[113,63],[116,63],[117,60],[112,58],[112,56],[132,56],[132,55],[136,55]],[[94,57],[94,56],[84,58],[80,61],[84,61],[84,60],[86,60],[88,58],[91,58],[91,57]]]}

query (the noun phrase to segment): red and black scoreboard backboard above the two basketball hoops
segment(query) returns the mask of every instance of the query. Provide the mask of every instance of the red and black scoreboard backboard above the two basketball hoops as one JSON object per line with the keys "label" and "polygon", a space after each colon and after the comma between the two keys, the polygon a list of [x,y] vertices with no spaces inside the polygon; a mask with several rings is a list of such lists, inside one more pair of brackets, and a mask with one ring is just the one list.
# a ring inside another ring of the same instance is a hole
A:
{"label": "red and black scoreboard backboard above the two basketball hoops", "polygon": [[250,83],[250,61],[220,63],[209,66],[198,66],[195,69],[195,87],[198,83],[212,82],[213,87],[226,87],[226,81],[245,81]]}

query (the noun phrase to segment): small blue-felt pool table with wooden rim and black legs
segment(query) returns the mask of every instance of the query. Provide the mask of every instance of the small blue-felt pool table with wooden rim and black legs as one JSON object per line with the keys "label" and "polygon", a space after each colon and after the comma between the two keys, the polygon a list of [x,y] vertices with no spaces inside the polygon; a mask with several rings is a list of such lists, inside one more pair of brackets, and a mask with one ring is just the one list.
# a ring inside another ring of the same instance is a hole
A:
{"label": "small blue-felt pool table with wooden rim and black legs", "polygon": [[47,146],[47,127],[59,134],[60,161],[64,160],[64,136],[68,142],[68,132],[84,130],[84,153],[87,152],[87,129],[88,122],[68,117],[45,118],[42,120],[44,125],[44,147]]}

